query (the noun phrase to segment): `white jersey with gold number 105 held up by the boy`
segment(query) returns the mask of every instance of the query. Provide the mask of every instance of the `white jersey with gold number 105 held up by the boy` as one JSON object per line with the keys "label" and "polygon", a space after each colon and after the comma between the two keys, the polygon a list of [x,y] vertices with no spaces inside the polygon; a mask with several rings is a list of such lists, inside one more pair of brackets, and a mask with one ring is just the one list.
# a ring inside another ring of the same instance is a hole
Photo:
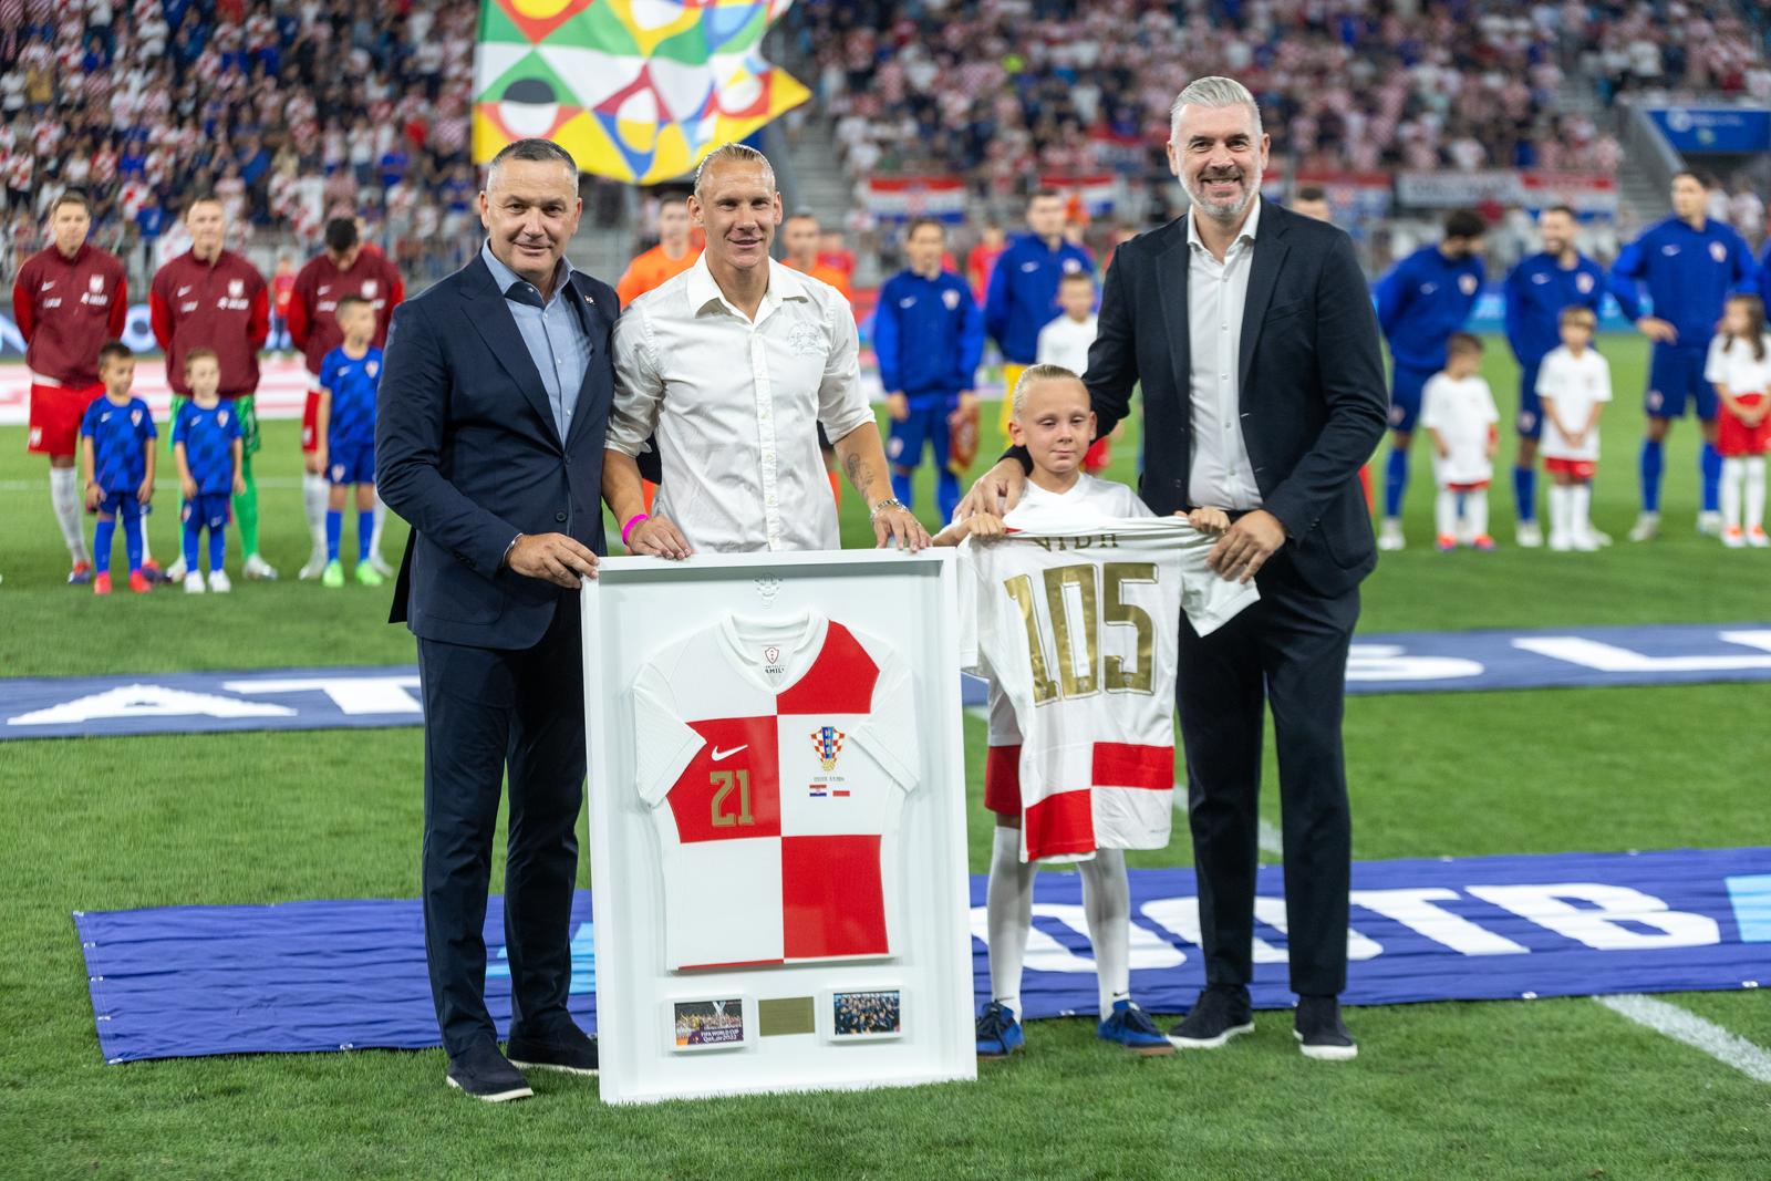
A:
{"label": "white jersey with gold number 105 held up by the boy", "polygon": [[1208,634],[1259,591],[1208,570],[1213,538],[1125,485],[1029,485],[1004,522],[960,549],[962,662],[990,678],[990,772],[1018,777],[1022,861],[1162,848],[1181,611]]}

